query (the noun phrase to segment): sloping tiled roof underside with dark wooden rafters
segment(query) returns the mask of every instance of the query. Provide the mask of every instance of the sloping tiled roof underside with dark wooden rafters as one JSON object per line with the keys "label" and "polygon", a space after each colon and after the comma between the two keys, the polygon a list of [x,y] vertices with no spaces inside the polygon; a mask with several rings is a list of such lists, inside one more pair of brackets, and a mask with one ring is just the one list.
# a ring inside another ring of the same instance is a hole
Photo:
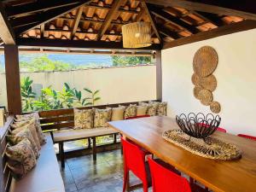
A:
{"label": "sloping tiled roof underside with dark wooden rafters", "polygon": [[121,27],[143,20],[154,25],[152,43],[160,44],[245,20],[135,0],[5,0],[3,6],[16,38],[121,42]]}

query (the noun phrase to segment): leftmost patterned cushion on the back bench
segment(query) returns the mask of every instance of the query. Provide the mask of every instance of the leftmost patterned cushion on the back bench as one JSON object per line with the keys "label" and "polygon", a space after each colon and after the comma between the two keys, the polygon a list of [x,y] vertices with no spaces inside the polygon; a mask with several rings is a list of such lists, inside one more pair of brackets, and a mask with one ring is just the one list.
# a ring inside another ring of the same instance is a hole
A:
{"label": "leftmost patterned cushion on the back bench", "polygon": [[73,109],[74,129],[91,129],[93,128],[94,109]]}

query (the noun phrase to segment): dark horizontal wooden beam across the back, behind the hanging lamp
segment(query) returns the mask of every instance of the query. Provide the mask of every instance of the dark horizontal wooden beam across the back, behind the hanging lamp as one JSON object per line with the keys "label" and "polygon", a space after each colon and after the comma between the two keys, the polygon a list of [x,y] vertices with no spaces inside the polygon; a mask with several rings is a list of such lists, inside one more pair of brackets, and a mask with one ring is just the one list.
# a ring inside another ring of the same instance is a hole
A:
{"label": "dark horizontal wooden beam across the back, behind the hanging lamp", "polygon": [[[124,49],[123,43],[104,42],[104,41],[84,41],[84,40],[64,40],[64,39],[40,39],[40,38],[17,38],[17,45],[32,47],[55,47],[73,49]],[[161,49],[160,44],[152,44],[149,47],[138,50]],[[128,50],[128,49],[125,49]]]}

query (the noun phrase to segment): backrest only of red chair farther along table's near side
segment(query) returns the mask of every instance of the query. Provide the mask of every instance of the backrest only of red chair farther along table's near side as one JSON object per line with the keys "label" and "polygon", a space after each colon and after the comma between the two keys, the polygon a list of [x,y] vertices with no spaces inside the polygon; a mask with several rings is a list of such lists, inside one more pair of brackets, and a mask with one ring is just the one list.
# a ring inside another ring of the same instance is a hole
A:
{"label": "backrest only of red chair farther along table's near side", "polygon": [[147,180],[147,173],[145,167],[145,154],[143,151],[132,143],[121,138],[124,150],[125,168],[131,170],[141,180]]}

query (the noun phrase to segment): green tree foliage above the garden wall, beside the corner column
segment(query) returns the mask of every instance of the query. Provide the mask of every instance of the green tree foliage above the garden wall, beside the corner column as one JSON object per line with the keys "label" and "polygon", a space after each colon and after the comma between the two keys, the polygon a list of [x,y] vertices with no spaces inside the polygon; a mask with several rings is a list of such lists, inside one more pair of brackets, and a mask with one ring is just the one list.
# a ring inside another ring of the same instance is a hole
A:
{"label": "green tree foliage above the garden wall, beside the corner column", "polygon": [[124,55],[113,55],[113,66],[128,66],[128,65],[140,65],[150,64],[150,56],[124,56]]}

